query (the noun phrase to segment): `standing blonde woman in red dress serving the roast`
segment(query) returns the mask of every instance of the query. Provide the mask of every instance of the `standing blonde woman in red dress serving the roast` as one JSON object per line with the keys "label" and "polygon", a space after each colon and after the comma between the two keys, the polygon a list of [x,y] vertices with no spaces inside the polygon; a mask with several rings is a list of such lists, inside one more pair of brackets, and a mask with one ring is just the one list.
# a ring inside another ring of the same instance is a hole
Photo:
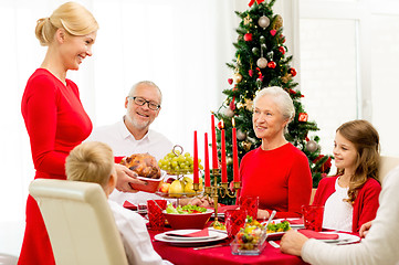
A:
{"label": "standing blonde woman in red dress serving the roast", "polygon": [[[38,20],[35,34],[48,51],[40,68],[27,83],[21,106],[35,179],[66,179],[67,155],[92,131],[78,88],[66,78],[66,72],[78,70],[83,60],[92,56],[97,29],[93,14],[74,2],[66,2],[50,18]],[[118,189],[133,191],[127,179],[134,174],[123,166],[117,166],[117,171]],[[32,197],[27,202],[27,225],[18,264],[55,264],[42,215]]]}

